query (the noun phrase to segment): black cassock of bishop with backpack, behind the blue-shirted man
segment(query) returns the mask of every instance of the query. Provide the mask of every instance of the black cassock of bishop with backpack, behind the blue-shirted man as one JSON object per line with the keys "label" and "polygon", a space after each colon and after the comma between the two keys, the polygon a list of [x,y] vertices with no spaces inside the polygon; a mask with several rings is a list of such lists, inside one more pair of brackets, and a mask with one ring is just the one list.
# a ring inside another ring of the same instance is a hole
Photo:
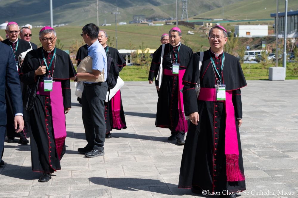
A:
{"label": "black cassock of bishop with backpack, behind the blue-shirted man", "polygon": [[[126,65],[126,62],[125,62],[124,58],[121,56],[121,54],[118,52],[118,50],[116,48],[113,48],[110,46],[106,46],[104,49],[105,49],[105,52],[109,52],[111,54],[111,57],[114,58],[114,60],[115,60],[116,66],[118,66],[119,71],[121,71],[123,69],[123,67]],[[125,122],[125,117],[124,117],[124,110],[123,110],[123,106],[122,106],[120,90],[119,90],[119,93],[117,93],[117,94],[119,94],[119,96],[120,96],[119,100],[114,100],[115,99],[115,97],[114,97],[108,103],[105,104],[106,133],[111,132],[112,129],[117,129],[117,130],[126,129],[126,122]],[[112,100],[113,100],[113,102],[120,103],[120,112],[114,111],[114,109],[113,109],[114,107],[112,107]],[[118,124],[113,123],[113,121],[115,122],[115,120],[113,118],[117,119]],[[121,124],[119,124],[119,122]]]}

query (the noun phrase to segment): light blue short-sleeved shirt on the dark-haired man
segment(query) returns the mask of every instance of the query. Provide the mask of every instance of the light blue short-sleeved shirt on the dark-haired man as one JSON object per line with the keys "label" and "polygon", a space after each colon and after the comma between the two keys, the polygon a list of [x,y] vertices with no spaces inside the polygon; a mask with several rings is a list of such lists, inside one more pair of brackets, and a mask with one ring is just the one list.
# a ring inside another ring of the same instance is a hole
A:
{"label": "light blue short-sleeved shirt on the dark-haired man", "polygon": [[[103,46],[96,40],[91,46],[88,47],[88,56],[92,58],[92,69],[99,70],[102,72],[104,70],[105,81],[107,80],[107,55]],[[94,82],[85,82],[94,83]]]}

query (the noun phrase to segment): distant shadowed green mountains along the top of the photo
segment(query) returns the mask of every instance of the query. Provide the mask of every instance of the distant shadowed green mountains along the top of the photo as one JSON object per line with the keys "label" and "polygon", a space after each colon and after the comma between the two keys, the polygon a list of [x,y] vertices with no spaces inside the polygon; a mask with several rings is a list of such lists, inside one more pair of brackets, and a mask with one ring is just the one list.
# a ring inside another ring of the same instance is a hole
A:
{"label": "distant shadowed green mountains along the top of the photo", "polygon": [[[189,17],[214,10],[224,5],[233,4],[241,0],[188,0]],[[109,0],[98,1],[99,20],[103,24],[113,23],[115,16],[111,11],[121,13],[118,22],[128,22],[133,15],[145,15],[149,19],[176,17],[175,0]],[[182,4],[179,0],[179,18],[181,18]],[[15,21],[19,24],[49,25],[49,0],[0,0],[0,23]],[[97,23],[96,0],[53,0],[53,23],[82,26],[86,23]]]}

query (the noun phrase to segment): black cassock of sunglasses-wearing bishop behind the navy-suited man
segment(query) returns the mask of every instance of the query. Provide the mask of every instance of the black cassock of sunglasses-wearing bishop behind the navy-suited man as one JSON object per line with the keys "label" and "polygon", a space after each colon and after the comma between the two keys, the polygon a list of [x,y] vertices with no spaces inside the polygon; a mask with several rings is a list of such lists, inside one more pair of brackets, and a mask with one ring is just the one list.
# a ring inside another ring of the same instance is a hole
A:
{"label": "black cassock of sunglasses-wearing bishop behind the navy-suited man", "polygon": [[[3,41],[2,43],[7,44],[8,46],[11,46],[13,49],[14,55],[15,55],[15,61],[18,63],[18,55],[20,55],[22,52],[27,51],[28,49],[31,48],[30,43],[18,38],[18,41],[15,43],[10,42],[10,40],[7,38]],[[17,69],[17,67],[15,66]],[[20,66],[18,64],[18,69],[20,69]],[[21,83],[21,90],[22,93],[24,93],[24,88],[23,88],[23,83]],[[6,115],[7,115],[7,137],[30,137],[30,124],[29,124],[29,113],[24,109],[24,121],[25,121],[25,126],[24,126],[24,131],[21,131],[19,133],[15,132],[15,125],[14,125],[14,115],[13,115],[13,107],[12,107],[12,102],[11,99],[9,98],[9,94],[7,92],[7,88],[5,88],[5,98],[6,98],[6,104],[7,104],[7,109],[6,109]]]}

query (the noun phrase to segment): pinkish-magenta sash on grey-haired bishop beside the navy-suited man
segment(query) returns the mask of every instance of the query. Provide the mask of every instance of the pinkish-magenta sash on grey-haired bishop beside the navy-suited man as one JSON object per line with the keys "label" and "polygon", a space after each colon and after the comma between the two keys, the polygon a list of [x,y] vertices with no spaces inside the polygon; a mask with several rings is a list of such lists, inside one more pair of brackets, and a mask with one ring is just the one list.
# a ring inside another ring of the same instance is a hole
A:
{"label": "pinkish-magenta sash on grey-haired bishop beside the navy-suited man", "polygon": [[66,138],[65,113],[61,82],[53,83],[53,91],[44,91],[44,82],[39,82],[37,94],[49,96],[52,109],[54,139],[59,159]]}

